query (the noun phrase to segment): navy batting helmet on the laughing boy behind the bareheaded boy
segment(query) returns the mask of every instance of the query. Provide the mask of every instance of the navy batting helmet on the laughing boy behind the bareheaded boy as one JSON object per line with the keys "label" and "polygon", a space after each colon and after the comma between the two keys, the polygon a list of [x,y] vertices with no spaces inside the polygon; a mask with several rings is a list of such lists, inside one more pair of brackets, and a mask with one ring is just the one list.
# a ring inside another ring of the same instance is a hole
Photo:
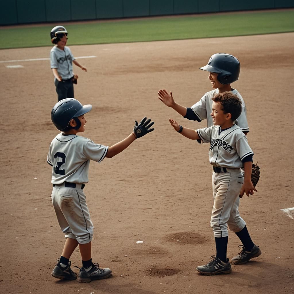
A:
{"label": "navy batting helmet on the laughing boy behind the bareheaded boy", "polygon": [[233,55],[217,53],[213,54],[209,59],[208,64],[200,69],[217,73],[218,81],[223,85],[227,85],[238,80],[240,74],[240,62]]}

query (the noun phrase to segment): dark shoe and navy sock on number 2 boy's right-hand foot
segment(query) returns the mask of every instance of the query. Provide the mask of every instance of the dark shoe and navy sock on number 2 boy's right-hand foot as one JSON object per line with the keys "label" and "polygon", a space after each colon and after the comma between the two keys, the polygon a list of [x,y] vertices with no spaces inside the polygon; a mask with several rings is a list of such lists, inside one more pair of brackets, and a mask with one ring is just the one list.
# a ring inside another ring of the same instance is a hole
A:
{"label": "dark shoe and navy sock on number 2 boy's right-hand foot", "polygon": [[110,268],[99,268],[98,263],[92,263],[92,259],[83,261],[83,267],[80,268],[77,280],[80,283],[90,283],[93,280],[102,280],[112,275]]}

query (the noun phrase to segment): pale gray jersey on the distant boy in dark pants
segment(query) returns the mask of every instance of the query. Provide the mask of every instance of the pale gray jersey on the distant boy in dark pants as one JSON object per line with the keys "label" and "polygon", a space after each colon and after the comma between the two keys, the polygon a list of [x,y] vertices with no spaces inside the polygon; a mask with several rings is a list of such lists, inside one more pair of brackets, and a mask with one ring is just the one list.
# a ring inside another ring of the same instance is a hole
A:
{"label": "pale gray jersey on the distant boy in dark pants", "polygon": [[51,69],[57,69],[63,80],[68,80],[74,76],[73,60],[75,58],[71,53],[71,49],[67,46],[64,47],[64,50],[54,46],[50,51]]}

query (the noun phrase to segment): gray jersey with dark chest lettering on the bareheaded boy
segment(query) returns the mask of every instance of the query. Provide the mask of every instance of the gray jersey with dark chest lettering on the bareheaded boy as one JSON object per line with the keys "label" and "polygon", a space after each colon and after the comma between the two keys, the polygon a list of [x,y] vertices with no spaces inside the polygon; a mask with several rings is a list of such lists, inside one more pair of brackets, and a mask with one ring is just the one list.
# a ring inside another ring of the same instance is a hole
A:
{"label": "gray jersey with dark chest lettering on the bareheaded boy", "polygon": [[209,162],[213,166],[241,168],[242,160],[254,154],[247,137],[237,125],[223,131],[220,126],[211,126],[198,129],[197,133],[203,143],[210,143]]}

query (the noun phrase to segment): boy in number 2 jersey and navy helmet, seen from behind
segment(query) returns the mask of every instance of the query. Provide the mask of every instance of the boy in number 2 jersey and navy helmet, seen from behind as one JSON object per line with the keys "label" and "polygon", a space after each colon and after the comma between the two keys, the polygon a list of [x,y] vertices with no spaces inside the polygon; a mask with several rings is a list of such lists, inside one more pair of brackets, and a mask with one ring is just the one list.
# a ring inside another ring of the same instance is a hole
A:
{"label": "boy in number 2 jersey and navy helmet, seen from behind", "polygon": [[[58,279],[75,280],[88,283],[92,280],[111,276],[109,268],[99,268],[91,258],[93,223],[90,218],[85,183],[88,183],[90,160],[101,163],[105,157],[111,158],[126,149],[136,138],[150,133],[154,122],[143,118],[136,124],[133,132],[111,147],[96,144],[88,138],[77,136],[85,131],[85,114],[92,106],[82,105],[74,98],[66,98],[53,107],[51,120],[61,131],[51,142],[47,162],[52,166],[52,203],[61,230],[65,233],[65,244],[61,257],[52,271]],[[82,268],[78,273],[71,270],[70,257],[79,246]]]}

